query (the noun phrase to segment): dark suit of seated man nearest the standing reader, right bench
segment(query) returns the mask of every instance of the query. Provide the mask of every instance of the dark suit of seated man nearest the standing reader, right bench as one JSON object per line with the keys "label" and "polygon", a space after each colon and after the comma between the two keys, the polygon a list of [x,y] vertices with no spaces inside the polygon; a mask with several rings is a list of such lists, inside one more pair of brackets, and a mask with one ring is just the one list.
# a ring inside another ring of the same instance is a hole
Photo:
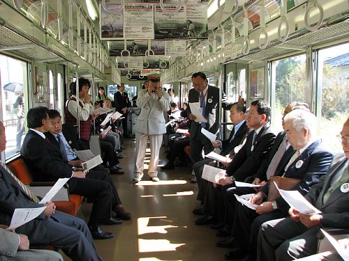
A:
{"label": "dark suit of seated man nearest the standing reader, right bench", "polygon": [[[248,127],[246,126],[246,121],[245,121],[237,130],[237,133],[235,134],[234,139],[232,139],[232,136],[234,135],[234,128],[233,128],[232,131],[230,132],[229,138],[222,141],[222,151],[220,155],[222,156],[225,156],[228,154],[234,155],[234,148],[237,145],[242,143],[242,140],[246,132],[248,132]],[[230,142],[231,139],[232,141]],[[198,182],[198,187],[199,187],[197,199],[201,201],[203,201],[205,198],[205,193],[206,193],[207,184],[208,184],[207,180],[204,180],[201,178],[202,171],[204,169],[205,164],[211,164],[212,161],[213,161],[212,159],[203,159],[202,161],[195,162],[195,164],[193,165],[193,171],[195,173],[196,180]]]}

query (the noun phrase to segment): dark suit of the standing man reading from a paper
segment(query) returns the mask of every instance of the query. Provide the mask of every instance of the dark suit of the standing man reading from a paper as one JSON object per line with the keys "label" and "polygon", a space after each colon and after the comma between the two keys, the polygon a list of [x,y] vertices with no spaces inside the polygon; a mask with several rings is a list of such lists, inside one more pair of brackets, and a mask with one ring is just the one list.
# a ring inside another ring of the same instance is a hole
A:
{"label": "dark suit of the standing man reading from a paper", "polygon": [[[188,102],[200,102],[200,93],[195,89],[189,90]],[[222,107],[223,109],[228,109],[230,102],[227,101],[226,96],[222,90]],[[188,106],[187,113],[191,113],[190,106]],[[205,119],[207,131],[217,134],[219,129],[219,88],[214,86],[208,86],[207,95],[206,95],[206,106],[205,106]],[[190,129],[190,141],[191,141],[191,159],[193,161],[202,160],[202,148],[204,148],[205,155],[211,152],[214,147],[212,146],[211,141],[207,139],[201,133],[201,124],[200,122],[195,122],[191,120],[191,129]]]}

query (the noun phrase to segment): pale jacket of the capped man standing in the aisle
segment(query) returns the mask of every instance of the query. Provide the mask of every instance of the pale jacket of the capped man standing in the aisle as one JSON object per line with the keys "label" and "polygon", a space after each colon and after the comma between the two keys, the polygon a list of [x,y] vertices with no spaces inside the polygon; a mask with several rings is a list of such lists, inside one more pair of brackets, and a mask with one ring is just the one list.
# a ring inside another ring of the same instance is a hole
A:
{"label": "pale jacket of the capped man standing in the aisle", "polygon": [[140,116],[135,122],[135,131],[144,134],[166,133],[164,111],[170,110],[168,93],[163,92],[161,99],[149,95],[147,90],[138,93],[137,106],[141,108]]}

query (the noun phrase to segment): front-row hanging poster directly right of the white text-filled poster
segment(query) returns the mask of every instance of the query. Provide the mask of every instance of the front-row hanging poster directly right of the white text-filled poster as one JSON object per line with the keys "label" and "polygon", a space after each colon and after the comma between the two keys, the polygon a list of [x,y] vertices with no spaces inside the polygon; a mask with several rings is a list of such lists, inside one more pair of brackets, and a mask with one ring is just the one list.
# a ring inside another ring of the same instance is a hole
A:
{"label": "front-row hanging poster directly right of the white text-filled poster", "polygon": [[177,5],[165,4],[171,13],[163,12],[160,5],[155,5],[154,30],[156,39],[184,39],[186,38],[186,5],[179,8]]}

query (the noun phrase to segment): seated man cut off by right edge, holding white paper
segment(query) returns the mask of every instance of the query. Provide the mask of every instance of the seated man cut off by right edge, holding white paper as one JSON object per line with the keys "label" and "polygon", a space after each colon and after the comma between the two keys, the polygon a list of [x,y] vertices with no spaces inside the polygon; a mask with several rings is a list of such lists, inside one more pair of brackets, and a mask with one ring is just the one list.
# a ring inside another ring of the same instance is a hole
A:
{"label": "seated man cut off by right edge, holding white paper", "polygon": [[289,218],[263,223],[258,237],[258,260],[295,260],[313,255],[320,227],[349,228],[349,118],[340,137],[344,153],[334,157],[327,175],[305,196],[321,213],[304,215],[290,208]]}

